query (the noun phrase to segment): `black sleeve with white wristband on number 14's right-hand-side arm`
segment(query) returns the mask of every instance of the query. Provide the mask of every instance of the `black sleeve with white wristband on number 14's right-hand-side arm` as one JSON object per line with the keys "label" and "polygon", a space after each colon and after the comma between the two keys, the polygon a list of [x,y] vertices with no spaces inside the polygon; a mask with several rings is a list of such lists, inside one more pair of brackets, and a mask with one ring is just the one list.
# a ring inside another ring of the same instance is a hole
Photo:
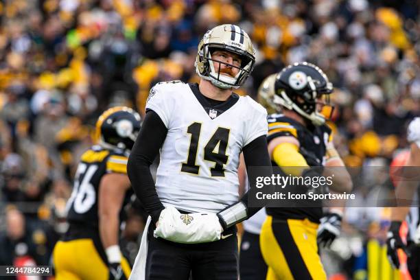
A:
{"label": "black sleeve with white wristband on number 14's right-hand-side arm", "polygon": [[[267,148],[267,138],[266,135],[257,137],[252,142],[244,147],[242,150],[244,152],[244,159],[247,168],[253,166],[264,166],[267,167],[266,174],[261,174],[262,176],[271,176],[272,168],[270,156],[268,155]],[[252,182],[249,182],[250,188],[255,187]],[[248,191],[244,196],[242,196],[239,202],[236,202],[229,207],[226,207],[218,213],[220,224],[222,224],[223,229],[229,228],[238,222],[242,222],[250,218],[261,209],[261,207],[248,207]]]}

